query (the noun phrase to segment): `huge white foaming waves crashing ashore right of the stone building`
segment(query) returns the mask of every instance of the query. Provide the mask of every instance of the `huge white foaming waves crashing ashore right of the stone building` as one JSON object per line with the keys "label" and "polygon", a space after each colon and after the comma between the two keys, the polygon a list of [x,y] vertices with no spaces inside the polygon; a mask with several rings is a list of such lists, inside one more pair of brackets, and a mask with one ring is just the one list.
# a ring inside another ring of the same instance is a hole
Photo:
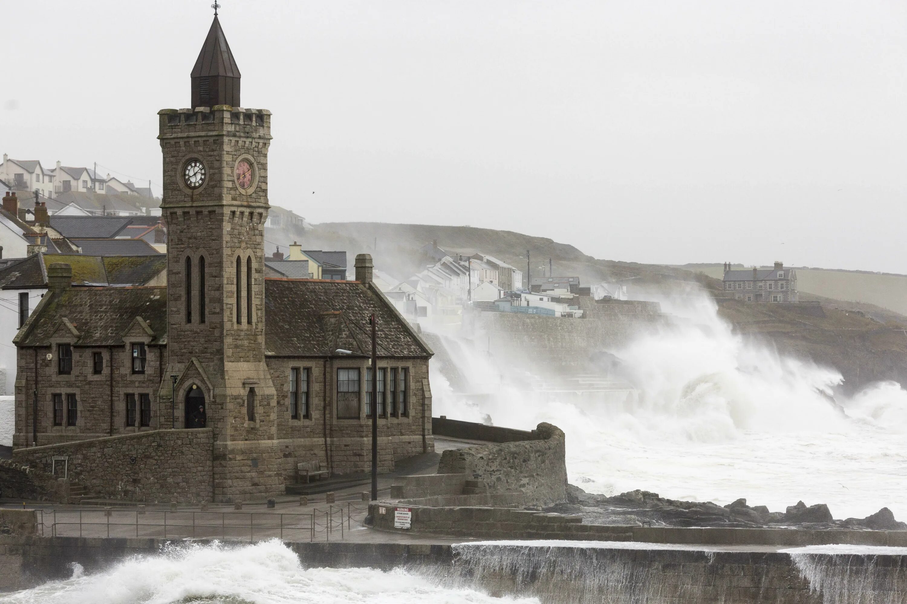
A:
{"label": "huge white foaming waves crashing ashore right of the stone building", "polygon": [[571,483],[590,493],[745,497],[782,512],[803,500],[837,518],[887,506],[907,520],[907,392],[884,382],[846,398],[838,371],[740,335],[707,296],[658,302],[671,325],[611,350],[629,396],[527,389],[544,368],[513,369],[485,334],[446,334],[469,391],[454,391],[433,363],[434,415],[523,429],[549,421],[567,434]]}

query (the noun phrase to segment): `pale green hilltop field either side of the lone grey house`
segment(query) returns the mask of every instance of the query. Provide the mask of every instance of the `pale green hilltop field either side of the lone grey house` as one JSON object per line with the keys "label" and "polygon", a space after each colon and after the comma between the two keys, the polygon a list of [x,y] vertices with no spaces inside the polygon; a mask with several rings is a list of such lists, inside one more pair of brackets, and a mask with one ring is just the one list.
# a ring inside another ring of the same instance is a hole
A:
{"label": "pale green hilltop field either side of the lone grey house", "polygon": [[[678,268],[721,279],[721,264],[684,264]],[[748,268],[742,264],[735,269]],[[907,314],[907,275],[793,267],[801,292],[844,302],[865,302]]]}

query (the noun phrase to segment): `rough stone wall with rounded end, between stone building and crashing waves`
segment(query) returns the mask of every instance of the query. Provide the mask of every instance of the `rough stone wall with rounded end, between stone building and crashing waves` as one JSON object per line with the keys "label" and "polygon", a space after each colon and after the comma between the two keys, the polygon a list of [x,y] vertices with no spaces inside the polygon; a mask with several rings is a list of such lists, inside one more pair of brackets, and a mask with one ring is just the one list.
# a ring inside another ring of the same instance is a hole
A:
{"label": "rough stone wall with rounded end, between stone building and crashing waves", "polygon": [[551,505],[567,498],[564,433],[539,424],[536,438],[444,451],[438,474],[465,474],[488,493],[522,493],[523,505]]}

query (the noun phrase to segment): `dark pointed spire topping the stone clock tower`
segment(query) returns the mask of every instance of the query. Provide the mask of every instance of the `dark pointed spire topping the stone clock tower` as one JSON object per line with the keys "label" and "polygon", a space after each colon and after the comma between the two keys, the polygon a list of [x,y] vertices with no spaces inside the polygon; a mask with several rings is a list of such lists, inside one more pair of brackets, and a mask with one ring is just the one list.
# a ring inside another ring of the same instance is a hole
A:
{"label": "dark pointed spire topping the stone clock tower", "polygon": [[192,68],[192,108],[239,107],[239,67],[217,16]]}

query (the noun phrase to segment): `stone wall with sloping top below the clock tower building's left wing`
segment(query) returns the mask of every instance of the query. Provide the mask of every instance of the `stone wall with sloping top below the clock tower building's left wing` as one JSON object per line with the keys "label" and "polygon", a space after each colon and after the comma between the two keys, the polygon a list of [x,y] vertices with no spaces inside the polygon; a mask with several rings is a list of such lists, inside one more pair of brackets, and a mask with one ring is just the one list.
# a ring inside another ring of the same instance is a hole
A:
{"label": "stone wall with sloping top below the clock tower building's left wing", "polygon": [[152,430],[18,448],[13,460],[49,474],[54,456],[66,456],[70,481],[105,499],[200,503],[213,493],[212,441],[210,428]]}

